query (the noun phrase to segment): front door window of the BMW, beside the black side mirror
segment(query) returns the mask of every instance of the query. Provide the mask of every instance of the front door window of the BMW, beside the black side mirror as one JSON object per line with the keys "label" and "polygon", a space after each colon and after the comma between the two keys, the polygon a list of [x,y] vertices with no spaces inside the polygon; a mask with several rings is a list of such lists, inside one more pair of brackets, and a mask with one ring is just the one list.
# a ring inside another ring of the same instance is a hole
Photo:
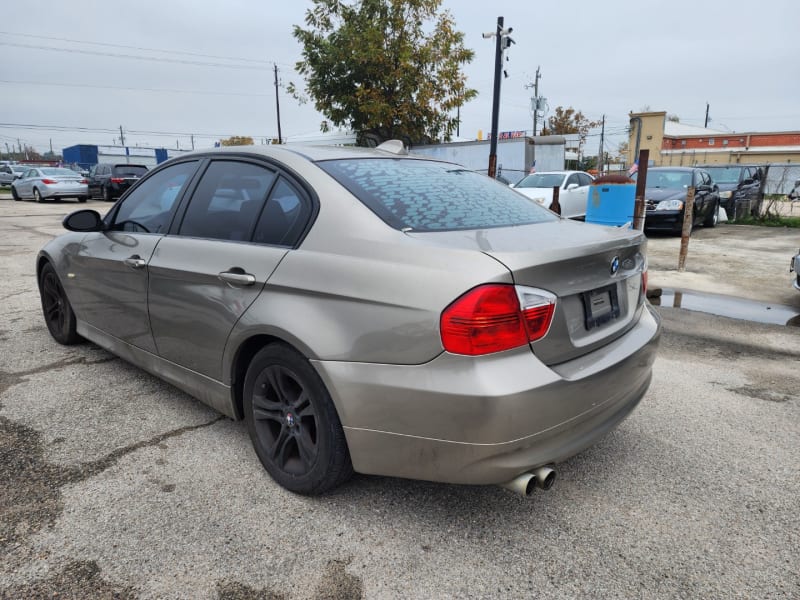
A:
{"label": "front door window of the BMW, beside the black side mirror", "polygon": [[176,201],[197,169],[197,161],[170,165],[141,182],[119,207],[111,229],[137,233],[165,233]]}

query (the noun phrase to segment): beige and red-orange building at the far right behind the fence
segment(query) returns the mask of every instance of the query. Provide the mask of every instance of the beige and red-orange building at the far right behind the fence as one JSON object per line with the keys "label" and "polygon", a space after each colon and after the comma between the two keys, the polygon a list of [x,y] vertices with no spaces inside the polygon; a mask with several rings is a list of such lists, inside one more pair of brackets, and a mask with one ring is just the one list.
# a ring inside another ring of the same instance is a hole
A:
{"label": "beige and red-orange building at the far right behind the fence", "polygon": [[628,164],[650,150],[655,166],[799,163],[800,131],[736,133],[670,121],[667,113],[630,113]]}

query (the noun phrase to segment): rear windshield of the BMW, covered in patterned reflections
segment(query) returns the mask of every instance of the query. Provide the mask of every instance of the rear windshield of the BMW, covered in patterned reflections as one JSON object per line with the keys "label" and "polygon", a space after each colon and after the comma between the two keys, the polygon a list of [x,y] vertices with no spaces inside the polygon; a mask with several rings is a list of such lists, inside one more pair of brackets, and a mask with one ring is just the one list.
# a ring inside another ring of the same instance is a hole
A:
{"label": "rear windshield of the BMW, covered in patterned reflections", "polygon": [[486,229],[558,219],[507,186],[451,163],[362,158],[318,165],[395,229]]}

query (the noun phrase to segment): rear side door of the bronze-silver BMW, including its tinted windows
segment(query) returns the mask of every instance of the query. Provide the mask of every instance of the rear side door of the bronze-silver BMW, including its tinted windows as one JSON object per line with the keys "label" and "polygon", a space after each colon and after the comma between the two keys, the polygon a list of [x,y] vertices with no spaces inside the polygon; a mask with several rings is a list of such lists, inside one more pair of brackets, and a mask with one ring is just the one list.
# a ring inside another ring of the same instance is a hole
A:
{"label": "rear side door of the bronze-silver BMW, including its tinted windows", "polygon": [[211,161],[175,233],[150,261],[159,355],[221,380],[230,332],[310,214],[310,198],[279,170],[243,159]]}

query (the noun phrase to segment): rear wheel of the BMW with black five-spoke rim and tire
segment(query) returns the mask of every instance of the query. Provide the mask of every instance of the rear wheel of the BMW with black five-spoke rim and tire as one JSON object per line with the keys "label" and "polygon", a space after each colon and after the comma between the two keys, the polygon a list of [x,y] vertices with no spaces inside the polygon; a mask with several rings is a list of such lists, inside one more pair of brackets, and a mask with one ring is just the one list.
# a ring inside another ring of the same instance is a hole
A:
{"label": "rear wheel of the BMW with black five-spoke rim and tire", "polygon": [[284,488],[318,495],[352,476],[330,394],[296,350],[270,344],[253,357],[244,380],[243,408],[256,455]]}

